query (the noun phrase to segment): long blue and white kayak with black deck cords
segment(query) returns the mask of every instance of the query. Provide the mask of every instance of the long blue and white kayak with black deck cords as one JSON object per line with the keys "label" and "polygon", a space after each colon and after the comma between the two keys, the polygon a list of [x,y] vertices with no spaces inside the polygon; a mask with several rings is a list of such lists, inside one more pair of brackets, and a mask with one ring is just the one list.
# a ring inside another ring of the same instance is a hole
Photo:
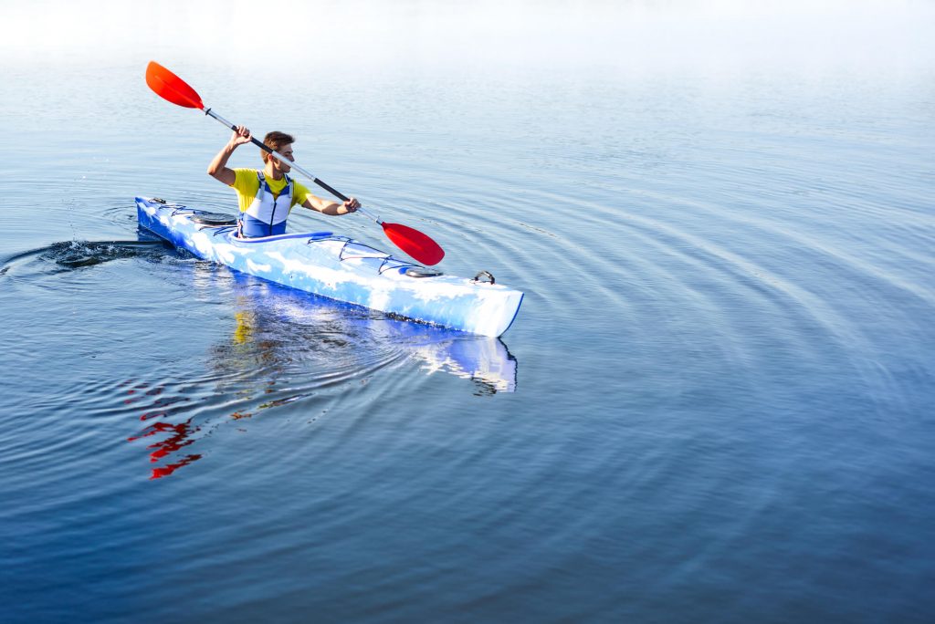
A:
{"label": "long blue and white kayak with black deck cords", "polygon": [[[482,271],[446,276],[331,232],[238,238],[236,218],[137,197],[139,226],[203,260],[300,291],[461,332],[499,336],[523,303]],[[486,277],[485,279],[483,277]]]}

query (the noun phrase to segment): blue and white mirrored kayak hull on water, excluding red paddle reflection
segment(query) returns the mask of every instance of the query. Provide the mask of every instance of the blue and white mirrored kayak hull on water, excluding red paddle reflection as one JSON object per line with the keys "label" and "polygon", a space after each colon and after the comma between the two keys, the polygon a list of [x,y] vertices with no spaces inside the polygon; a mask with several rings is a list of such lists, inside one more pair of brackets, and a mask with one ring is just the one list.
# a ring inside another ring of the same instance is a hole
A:
{"label": "blue and white mirrored kayak hull on water, excluding red paddle reflection", "polygon": [[275,367],[334,383],[414,363],[426,375],[468,380],[476,394],[516,390],[517,362],[499,338],[396,319],[254,277],[233,278],[234,327],[230,342],[213,350],[216,365],[244,369],[246,363],[254,374]]}

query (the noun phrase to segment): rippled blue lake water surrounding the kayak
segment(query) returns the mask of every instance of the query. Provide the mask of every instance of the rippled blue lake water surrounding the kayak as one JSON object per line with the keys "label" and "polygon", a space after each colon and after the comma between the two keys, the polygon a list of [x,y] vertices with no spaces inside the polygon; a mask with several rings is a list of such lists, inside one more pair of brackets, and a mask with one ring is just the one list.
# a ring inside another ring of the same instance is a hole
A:
{"label": "rippled blue lake water surrounding the kayak", "polygon": [[147,60],[0,65],[4,621],[935,616],[931,66],[165,63],[525,291],[488,340],[132,243],[233,206]]}

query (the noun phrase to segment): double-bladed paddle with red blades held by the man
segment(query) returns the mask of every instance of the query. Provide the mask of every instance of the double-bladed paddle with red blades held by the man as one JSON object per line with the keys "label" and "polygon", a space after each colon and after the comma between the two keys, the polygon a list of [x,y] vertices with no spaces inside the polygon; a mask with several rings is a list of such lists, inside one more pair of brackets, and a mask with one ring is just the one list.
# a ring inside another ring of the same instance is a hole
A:
{"label": "double-bladed paddle with red blades held by the man", "polygon": [[[231,130],[237,130],[236,125],[230,121],[225,120],[223,117],[221,117],[221,115],[218,115],[210,108],[205,108],[205,105],[201,101],[201,96],[198,95],[198,93],[195,92],[194,89],[188,85],[188,83],[155,61],[151,61],[150,64],[146,66],[146,84],[148,84],[150,89],[156,92],[157,95],[164,98],[165,100],[168,100],[172,104],[185,106],[186,108],[197,108],[209,117],[220,121],[223,123],[223,125],[230,128]],[[294,168],[303,176],[308,177],[312,182],[322,187],[325,191],[328,191],[335,197],[338,197],[338,199],[340,199],[342,202],[348,201],[348,197],[345,194],[331,188],[322,180],[314,177],[308,171],[300,167],[297,163],[290,161],[278,151],[264,145],[262,141],[255,137],[251,137],[250,140],[254,145],[260,149],[263,149],[270,155],[275,156],[281,162],[287,163],[290,167]],[[377,221],[377,223],[379,223],[383,228],[383,234],[386,234],[386,237],[393,241],[393,244],[396,245],[396,247],[408,253],[418,262],[432,265],[438,264],[441,262],[441,259],[444,258],[444,250],[439,247],[438,243],[436,243],[426,234],[410,228],[407,225],[401,225],[399,223],[387,223],[386,221],[382,221],[378,217],[371,215],[363,208],[358,208],[357,212],[360,212],[370,219]]]}

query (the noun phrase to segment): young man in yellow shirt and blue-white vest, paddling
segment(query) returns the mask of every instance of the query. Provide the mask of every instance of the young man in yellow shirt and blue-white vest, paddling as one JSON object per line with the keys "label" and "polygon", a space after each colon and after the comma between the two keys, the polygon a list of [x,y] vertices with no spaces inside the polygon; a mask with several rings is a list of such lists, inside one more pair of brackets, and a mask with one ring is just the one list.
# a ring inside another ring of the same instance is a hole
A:
{"label": "young man in yellow shirt and blue-white vest, paddling", "polygon": [[[234,135],[227,142],[214,160],[208,165],[208,175],[221,180],[227,186],[234,187],[240,203],[240,217],[237,220],[237,232],[243,238],[285,234],[286,218],[292,206],[300,204],[325,215],[346,215],[354,212],[360,203],[353,197],[343,204],[329,202],[309,192],[308,187],[287,176],[292,167],[281,163],[266,151],[261,151],[265,166],[262,171],[255,169],[231,169],[227,160],[238,146],[250,143],[251,134],[243,126],[237,126]],[[271,132],[263,143],[280,152],[290,161],[293,158],[292,144],[295,139],[281,132]]]}

